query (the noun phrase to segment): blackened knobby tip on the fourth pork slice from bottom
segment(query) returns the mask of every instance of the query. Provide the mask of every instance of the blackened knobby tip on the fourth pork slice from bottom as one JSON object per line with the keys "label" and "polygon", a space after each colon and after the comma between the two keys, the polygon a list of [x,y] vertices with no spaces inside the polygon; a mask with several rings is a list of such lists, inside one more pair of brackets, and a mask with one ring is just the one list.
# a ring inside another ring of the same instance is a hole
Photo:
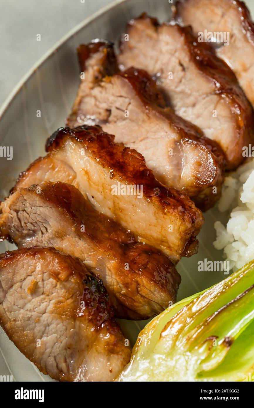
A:
{"label": "blackened knobby tip on the fourth pork slice from bottom", "polygon": [[82,71],[85,71],[88,58],[90,58],[91,55],[97,53],[98,51],[103,51],[105,54],[103,65],[105,75],[113,75],[114,73],[117,73],[117,58],[115,56],[113,46],[113,42],[102,40],[99,38],[93,40],[92,42],[89,42],[88,44],[80,44],[80,46],[77,48],[77,56],[80,63],[80,69]]}

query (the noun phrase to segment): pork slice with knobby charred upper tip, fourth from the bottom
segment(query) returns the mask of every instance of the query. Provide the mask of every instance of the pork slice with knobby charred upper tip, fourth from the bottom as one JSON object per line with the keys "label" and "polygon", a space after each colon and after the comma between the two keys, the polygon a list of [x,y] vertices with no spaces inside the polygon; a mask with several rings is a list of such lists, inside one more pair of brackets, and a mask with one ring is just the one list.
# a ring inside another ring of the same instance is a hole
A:
{"label": "pork slice with knobby charred upper tip, fourth from the bottom", "polygon": [[[78,56],[85,75],[66,124],[71,128],[100,124],[115,135],[116,142],[144,155],[157,180],[189,197],[201,193],[194,201],[203,210],[210,208],[220,196],[223,181],[224,155],[219,145],[166,107],[146,71],[130,68],[115,73],[112,44],[101,40],[81,45]],[[218,188],[215,194],[213,186]]]}

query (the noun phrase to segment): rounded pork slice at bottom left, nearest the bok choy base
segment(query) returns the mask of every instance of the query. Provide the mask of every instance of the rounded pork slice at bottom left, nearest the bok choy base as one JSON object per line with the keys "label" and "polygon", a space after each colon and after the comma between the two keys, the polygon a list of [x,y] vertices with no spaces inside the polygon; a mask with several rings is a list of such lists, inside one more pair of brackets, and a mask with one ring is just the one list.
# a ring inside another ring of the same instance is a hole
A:
{"label": "rounded pork slice at bottom left, nearest the bok choy base", "polygon": [[0,324],[59,381],[113,381],[130,359],[102,282],[54,248],[0,255]]}

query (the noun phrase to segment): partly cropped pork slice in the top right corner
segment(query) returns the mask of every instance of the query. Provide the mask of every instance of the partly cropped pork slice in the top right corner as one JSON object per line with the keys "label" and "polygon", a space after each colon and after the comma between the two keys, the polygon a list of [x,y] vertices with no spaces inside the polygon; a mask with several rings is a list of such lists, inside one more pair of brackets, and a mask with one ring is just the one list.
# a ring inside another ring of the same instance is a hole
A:
{"label": "partly cropped pork slice in the top right corner", "polygon": [[234,71],[254,106],[254,24],[245,3],[239,0],[181,0],[176,6],[175,18],[180,23],[191,24],[197,34],[212,35],[218,57]]}

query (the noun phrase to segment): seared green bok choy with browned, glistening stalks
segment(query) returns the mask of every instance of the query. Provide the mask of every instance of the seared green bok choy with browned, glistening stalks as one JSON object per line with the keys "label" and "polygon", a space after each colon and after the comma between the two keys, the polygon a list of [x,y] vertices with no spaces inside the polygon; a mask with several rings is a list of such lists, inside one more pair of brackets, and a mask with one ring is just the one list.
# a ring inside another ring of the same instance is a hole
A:
{"label": "seared green bok choy with browned, glistening stalks", "polygon": [[140,332],[117,381],[254,380],[254,261]]}

